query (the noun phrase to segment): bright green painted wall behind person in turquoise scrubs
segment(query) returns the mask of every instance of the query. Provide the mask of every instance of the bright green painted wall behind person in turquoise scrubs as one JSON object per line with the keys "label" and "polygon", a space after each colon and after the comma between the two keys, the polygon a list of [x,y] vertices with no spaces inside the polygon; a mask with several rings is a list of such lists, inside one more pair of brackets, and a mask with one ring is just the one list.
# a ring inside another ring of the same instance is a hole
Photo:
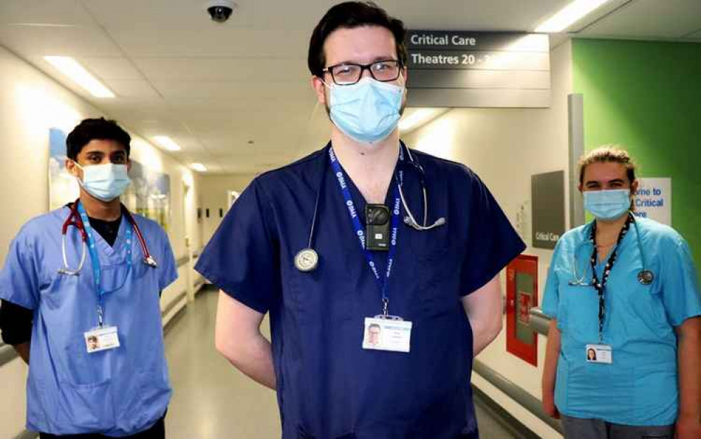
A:
{"label": "bright green painted wall behind person in turquoise scrubs", "polygon": [[672,178],[672,227],[701,274],[701,44],[575,39],[584,142],[624,146],[641,177]]}

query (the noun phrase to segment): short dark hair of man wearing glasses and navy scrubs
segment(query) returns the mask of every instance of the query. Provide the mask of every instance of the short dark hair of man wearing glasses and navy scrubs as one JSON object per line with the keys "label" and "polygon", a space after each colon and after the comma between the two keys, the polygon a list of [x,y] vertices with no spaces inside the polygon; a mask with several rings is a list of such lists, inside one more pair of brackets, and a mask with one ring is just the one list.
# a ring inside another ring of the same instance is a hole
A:
{"label": "short dark hair of man wearing glasses and navy scrubs", "polygon": [[346,1],[329,9],[314,28],[307,57],[309,71],[314,76],[323,76],[326,64],[324,43],[332,32],[339,28],[353,29],[362,26],[380,26],[392,32],[399,62],[402,66],[407,65],[409,55],[404,43],[407,29],[402,20],[390,17],[372,1]]}

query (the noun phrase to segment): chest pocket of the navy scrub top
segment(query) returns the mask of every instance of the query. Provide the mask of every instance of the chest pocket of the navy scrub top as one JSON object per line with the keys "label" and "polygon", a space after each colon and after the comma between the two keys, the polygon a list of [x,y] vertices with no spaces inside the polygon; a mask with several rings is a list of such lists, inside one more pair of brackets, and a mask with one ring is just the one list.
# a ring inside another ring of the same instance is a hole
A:
{"label": "chest pocket of the navy scrub top", "polygon": [[420,255],[417,272],[417,301],[426,317],[440,316],[460,306],[461,258],[456,246],[438,248]]}

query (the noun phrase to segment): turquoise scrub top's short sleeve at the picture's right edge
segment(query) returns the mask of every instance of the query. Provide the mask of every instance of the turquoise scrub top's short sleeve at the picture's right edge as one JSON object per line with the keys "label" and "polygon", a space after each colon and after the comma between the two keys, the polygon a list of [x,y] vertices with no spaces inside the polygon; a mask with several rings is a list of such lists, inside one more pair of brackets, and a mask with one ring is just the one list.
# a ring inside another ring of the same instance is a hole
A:
{"label": "turquoise scrub top's short sleeve at the picture's right edge", "polygon": [[689,246],[683,239],[674,243],[674,251],[662,258],[662,301],[667,319],[679,326],[687,318],[701,316],[699,283]]}

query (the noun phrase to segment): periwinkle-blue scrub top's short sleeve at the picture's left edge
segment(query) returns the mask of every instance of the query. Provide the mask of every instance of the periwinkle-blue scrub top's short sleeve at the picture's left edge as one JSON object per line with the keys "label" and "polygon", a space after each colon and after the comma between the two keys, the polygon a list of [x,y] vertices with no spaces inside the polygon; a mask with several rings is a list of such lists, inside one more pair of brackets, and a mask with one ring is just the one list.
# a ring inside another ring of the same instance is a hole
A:
{"label": "periwinkle-blue scrub top's short sleeve at the picture's left edge", "polygon": [[10,244],[5,265],[0,271],[0,299],[34,309],[39,303],[39,273],[34,240],[27,226]]}

